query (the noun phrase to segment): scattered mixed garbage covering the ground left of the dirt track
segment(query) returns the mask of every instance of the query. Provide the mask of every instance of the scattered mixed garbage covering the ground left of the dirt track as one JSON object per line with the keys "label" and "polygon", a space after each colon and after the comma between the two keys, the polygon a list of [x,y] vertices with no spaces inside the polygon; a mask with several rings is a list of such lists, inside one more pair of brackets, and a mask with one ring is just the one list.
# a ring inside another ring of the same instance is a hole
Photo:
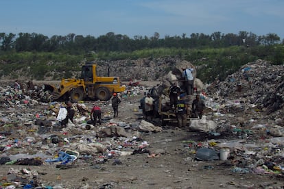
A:
{"label": "scattered mixed garbage covering the ground left of the dirt track", "polygon": [[[119,94],[124,104],[120,111],[138,108],[138,104],[128,99],[146,90],[143,86],[129,86],[126,92]],[[67,127],[62,127],[57,116],[60,108],[66,106],[65,102],[46,103],[43,97],[43,90],[38,86],[31,90],[16,84],[1,87],[0,164],[72,168],[86,159],[92,159],[93,164],[102,164],[121,155],[150,153],[141,132],[163,130],[137,118],[130,117],[127,123],[113,120],[110,101],[95,102],[104,110],[102,126],[95,127],[91,121],[93,102],[80,101],[73,103],[76,112],[73,123],[69,120]],[[7,175],[2,187],[44,186],[40,175],[26,168],[10,168]]]}

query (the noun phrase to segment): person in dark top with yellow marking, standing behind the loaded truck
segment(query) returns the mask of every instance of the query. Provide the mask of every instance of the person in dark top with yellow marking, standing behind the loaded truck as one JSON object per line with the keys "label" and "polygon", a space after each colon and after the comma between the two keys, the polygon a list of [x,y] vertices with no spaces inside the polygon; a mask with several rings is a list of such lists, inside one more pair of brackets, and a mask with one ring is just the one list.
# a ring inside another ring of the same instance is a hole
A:
{"label": "person in dark top with yellow marking, standing behind the loaded truck", "polygon": [[180,99],[176,104],[176,118],[178,120],[178,127],[187,126],[187,103],[185,101],[185,94],[180,95]]}

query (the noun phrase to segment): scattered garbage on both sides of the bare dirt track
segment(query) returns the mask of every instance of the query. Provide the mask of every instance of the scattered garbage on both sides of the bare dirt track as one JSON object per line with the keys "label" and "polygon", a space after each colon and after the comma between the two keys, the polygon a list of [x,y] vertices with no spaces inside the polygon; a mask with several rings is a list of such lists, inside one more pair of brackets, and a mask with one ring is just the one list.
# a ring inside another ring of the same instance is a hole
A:
{"label": "scattered garbage on both sides of the bare dirt track", "polygon": [[[173,75],[178,79],[178,67],[169,73],[169,77]],[[226,81],[216,81],[206,88],[200,84],[206,111],[202,119],[192,119],[188,129],[204,137],[201,141],[180,142],[185,162],[221,160],[234,173],[283,175],[283,78],[283,66],[258,60],[246,64]],[[170,81],[174,80],[165,79],[160,86],[165,89]],[[131,97],[143,96],[148,90],[128,86],[126,92],[119,94],[122,101],[119,111],[127,108],[139,112],[140,102],[132,101]],[[161,127],[158,122],[131,115],[114,120],[110,101],[95,102],[104,109],[99,127],[90,120],[93,102],[84,101],[73,103],[74,121],[69,120],[67,127],[62,127],[57,116],[65,103],[45,99],[40,86],[1,87],[0,101],[0,164],[11,165],[5,187],[45,185],[36,171],[16,170],[12,165],[73,168],[75,164],[86,163],[85,160],[92,160],[92,166],[110,160],[121,164],[121,156],[145,153],[152,158],[165,153],[150,150],[151,143],[143,140],[143,134],[162,132],[168,125]],[[204,166],[211,168],[214,166]]]}

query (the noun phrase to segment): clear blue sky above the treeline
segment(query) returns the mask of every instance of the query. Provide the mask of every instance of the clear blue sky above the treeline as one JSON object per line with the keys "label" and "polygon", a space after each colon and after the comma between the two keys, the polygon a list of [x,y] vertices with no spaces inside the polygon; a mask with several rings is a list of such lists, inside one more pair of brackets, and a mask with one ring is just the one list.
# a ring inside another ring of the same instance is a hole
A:
{"label": "clear blue sky above the treeline", "polygon": [[0,32],[45,36],[108,32],[134,36],[192,33],[284,38],[284,0],[0,0]]}

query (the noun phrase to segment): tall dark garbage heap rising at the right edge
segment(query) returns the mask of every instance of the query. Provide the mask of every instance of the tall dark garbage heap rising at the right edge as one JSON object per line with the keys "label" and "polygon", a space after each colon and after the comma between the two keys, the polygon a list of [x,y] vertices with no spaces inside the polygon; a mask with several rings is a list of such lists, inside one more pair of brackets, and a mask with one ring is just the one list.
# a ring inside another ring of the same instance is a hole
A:
{"label": "tall dark garbage heap rising at the right edge", "polygon": [[241,99],[270,114],[283,108],[284,66],[263,60],[250,62],[225,81],[211,84],[208,92],[217,101]]}

